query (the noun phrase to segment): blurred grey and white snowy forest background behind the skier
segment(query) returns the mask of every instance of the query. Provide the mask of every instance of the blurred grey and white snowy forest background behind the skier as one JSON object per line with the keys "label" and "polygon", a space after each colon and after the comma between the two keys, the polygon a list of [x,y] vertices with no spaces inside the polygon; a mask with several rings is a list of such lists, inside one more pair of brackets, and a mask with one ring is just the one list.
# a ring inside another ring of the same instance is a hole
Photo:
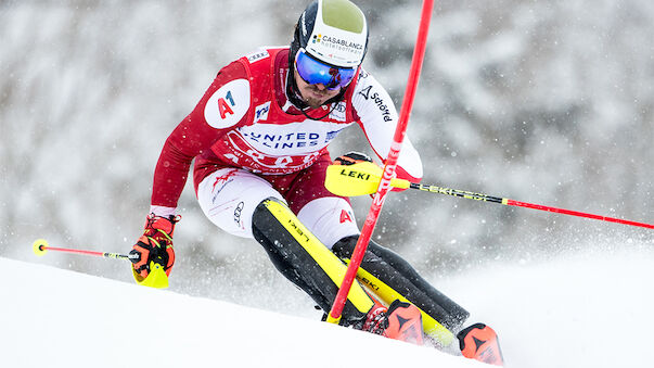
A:
{"label": "blurred grey and white snowy forest background behind the skier", "polygon": [[[399,110],[421,1],[355,2],[363,66]],[[119,261],[35,259],[31,243],[129,252],[167,136],[223,65],[288,45],[307,3],[0,1],[0,256],[130,281]],[[649,0],[436,1],[408,130],[423,182],[654,223],[653,35]],[[330,152],[363,142],[351,127]],[[352,199],[360,226],[370,202]],[[204,217],[191,180],[179,210],[172,290],[278,310],[306,297]],[[654,253],[652,230],[420,191],[389,193],[373,237],[436,285],[486,264]]]}

